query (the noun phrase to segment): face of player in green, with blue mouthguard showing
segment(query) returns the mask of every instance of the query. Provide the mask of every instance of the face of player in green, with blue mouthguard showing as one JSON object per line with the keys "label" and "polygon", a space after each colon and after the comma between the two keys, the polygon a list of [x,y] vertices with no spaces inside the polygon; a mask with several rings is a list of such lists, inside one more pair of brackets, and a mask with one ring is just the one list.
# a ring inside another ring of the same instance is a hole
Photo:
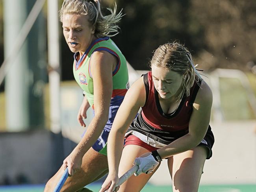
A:
{"label": "face of player in green, with blue mouthguard showing", "polygon": [[72,52],[83,54],[91,44],[94,28],[88,22],[87,15],[64,14],[62,17],[63,34]]}

